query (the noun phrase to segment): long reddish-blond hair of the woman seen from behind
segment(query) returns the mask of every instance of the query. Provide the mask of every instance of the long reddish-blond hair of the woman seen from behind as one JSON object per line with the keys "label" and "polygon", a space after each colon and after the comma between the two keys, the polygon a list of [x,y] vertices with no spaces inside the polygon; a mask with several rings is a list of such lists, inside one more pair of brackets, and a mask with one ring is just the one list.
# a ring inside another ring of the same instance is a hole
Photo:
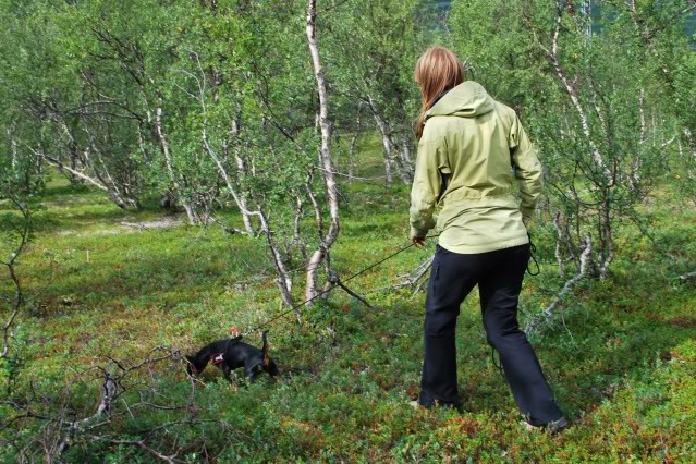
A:
{"label": "long reddish-blond hair of the woman seen from behind", "polygon": [[420,95],[423,105],[420,114],[416,122],[416,138],[419,141],[425,127],[426,111],[449,89],[464,82],[464,69],[456,54],[444,47],[432,47],[426,50],[418,62],[414,77]]}

